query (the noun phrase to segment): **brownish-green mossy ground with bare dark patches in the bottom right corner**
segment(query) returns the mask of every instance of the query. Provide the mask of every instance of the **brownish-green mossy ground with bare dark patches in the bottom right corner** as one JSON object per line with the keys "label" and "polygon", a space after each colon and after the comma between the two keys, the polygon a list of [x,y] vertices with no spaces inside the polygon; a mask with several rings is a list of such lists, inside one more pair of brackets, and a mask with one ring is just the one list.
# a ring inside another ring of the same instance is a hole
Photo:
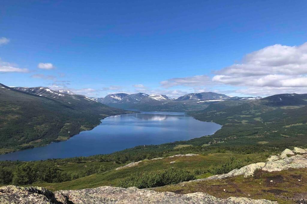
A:
{"label": "brownish-green mossy ground with bare dark patches in the bottom right corner", "polygon": [[[270,182],[270,181],[273,182]],[[300,180],[300,181],[299,181]],[[153,188],[155,191],[175,193],[204,192],[219,198],[231,196],[275,200],[278,203],[300,203],[307,197],[307,169],[279,172],[257,171],[254,177],[235,176],[221,180],[185,182]],[[225,189],[225,191],[224,191]]]}

